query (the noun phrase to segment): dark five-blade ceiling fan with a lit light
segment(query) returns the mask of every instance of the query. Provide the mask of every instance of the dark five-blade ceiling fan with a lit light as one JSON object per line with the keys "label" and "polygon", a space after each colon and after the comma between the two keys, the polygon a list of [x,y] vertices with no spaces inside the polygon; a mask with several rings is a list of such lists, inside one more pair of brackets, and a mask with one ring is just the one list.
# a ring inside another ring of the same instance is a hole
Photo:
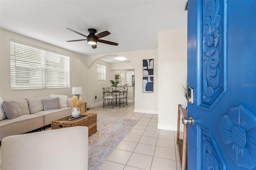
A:
{"label": "dark five-blade ceiling fan with a lit light", "polygon": [[108,31],[104,31],[104,32],[101,32],[97,35],[95,35],[95,33],[97,32],[97,30],[93,29],[93,28],[89,28],[88,29],[88,32],[90,33],[88,36],[84,35],[84,34],[81,34],[79,32],[76,32],[74,30],[71,30],[70,28],[66,28],[76,34],[79,34],[81,36],[84,36],[86,37],[87,39],[82,39],[82,40],[70,40],[70,41],[66,41],[66,42],[77,42],[77,41],[85,41],[87,40],[87,43],[92,45],[92,48],[97,48],[97,42],[100,42],[100,43],[106,43],[106,44],[109,44],[109,45],[118,45],[118,43],[115,43],[115,42],[109,42],[109,41],[106,41],[106,40],[99,40],[100,38],[102,37],[106,37],[110,34],[110,32]]}

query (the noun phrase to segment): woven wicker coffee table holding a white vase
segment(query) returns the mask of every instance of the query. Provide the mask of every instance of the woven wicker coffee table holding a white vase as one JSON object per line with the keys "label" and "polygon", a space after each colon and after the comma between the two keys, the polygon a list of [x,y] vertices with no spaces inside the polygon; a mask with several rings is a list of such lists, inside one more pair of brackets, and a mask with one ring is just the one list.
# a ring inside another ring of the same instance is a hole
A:
{"label": "woven wicker coffee table holding a white vase", "polygon": [[88,135],[92,135],[97,132],[97,114],[96,113],[88,113],[88,112],[80,112],[80,115],[87,115],[86,117],[82,117],[76,121],[66,121],[66,118],[71,117],[63,117],[61,119],[57,119],[52,121],[52,129],[58,128],[66,128],[66,127],[75,127],[75,126],[84,126],[88,127]]}

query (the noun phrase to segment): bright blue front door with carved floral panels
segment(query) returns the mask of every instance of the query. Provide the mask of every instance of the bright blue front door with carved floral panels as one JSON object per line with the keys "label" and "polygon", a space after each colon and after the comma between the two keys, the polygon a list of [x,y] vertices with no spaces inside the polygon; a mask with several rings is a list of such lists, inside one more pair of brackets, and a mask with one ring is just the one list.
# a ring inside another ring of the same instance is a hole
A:
{"label": "bright blue front door with carved floral panels", "polygon": [[188,169],[255,169],[255,0],[188,0],[188,87]]}

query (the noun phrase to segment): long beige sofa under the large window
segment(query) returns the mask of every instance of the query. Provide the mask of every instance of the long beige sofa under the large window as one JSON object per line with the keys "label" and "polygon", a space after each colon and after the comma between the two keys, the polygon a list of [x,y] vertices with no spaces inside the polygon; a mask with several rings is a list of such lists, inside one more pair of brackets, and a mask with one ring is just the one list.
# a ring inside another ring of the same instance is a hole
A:
{"label": "long beige sofa under the large window", "polygon": [[0,121],[0,141],[10,135],[23,134],[50,125],[52,121],[71,115],[70,107],[44,110],[43,100],[49,96],[12,100],[17,103],[21,116]]}

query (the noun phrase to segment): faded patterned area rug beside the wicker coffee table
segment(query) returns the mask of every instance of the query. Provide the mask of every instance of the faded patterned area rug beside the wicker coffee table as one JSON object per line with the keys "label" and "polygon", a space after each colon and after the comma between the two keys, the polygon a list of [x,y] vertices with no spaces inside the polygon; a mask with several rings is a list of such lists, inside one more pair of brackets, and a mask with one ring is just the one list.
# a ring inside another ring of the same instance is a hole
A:
{"label": "faded patterned area rug beside the wicker coffee table", "polygon": [[88,169],[97,170],[136,123],[132,119],[97,117],[97,132],[88,140]]}

